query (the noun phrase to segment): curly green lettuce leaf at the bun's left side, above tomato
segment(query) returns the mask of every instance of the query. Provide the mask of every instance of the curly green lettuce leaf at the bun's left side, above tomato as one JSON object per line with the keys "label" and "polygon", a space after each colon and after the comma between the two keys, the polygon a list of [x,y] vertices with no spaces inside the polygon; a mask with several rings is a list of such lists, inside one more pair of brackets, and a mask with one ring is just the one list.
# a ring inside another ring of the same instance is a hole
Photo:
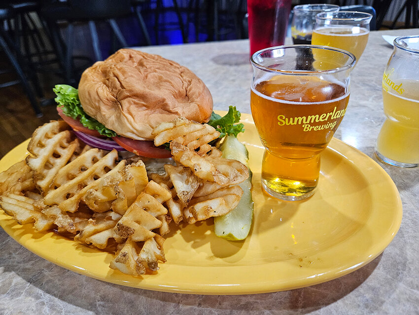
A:
{"label": "curly green lettuce leaf at the bun's left side, above tomato", "polygon": [[78,90],[70,85],[58,84],[55,85],[53,91],[57,95],[55,101],[58,106],[63,109],[63,113],[73,119],[77,119],[83,126],[91,130],[98,130],[99,133],[106,137],[116,136],[116,132],[106,128],[95,118],[87,115],[81,107],[78,98]]}

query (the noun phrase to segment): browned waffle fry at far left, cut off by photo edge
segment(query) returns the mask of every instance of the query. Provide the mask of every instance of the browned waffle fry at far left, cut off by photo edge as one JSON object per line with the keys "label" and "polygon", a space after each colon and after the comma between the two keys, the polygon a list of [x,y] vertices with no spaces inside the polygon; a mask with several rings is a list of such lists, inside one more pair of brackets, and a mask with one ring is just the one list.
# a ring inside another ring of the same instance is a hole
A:
{"label": "browned waffle fry at far left, cut off by photo edge", "polygon": [[22,191],[35,189],[33,171],[25,160],[17,162],[0,173],[0,195],[5,193],[19,194]]}

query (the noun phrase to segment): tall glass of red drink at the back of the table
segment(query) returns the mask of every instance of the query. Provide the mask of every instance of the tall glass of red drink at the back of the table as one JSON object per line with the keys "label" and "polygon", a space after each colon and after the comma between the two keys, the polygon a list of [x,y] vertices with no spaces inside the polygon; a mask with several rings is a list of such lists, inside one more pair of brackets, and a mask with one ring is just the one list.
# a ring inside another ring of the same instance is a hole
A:
{"label": "tall glass of red drink at the back of the table", "polygon": [[250,56],[284,44],[291,0],[247,0]]}

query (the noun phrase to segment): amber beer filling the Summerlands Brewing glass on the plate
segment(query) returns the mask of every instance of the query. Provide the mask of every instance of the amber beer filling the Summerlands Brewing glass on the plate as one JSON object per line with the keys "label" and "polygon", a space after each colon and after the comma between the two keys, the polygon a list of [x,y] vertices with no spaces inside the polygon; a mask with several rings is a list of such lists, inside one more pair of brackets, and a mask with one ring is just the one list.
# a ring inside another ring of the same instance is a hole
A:
{"label": "amber beer filling the Summerlands Brewing glass on the plate", "polygon": [[250,106],[266,148],[262,185],[286,196],[309,196],[320,157],[349,101],[339,82],[317,77],[274,76],[251,88]]}

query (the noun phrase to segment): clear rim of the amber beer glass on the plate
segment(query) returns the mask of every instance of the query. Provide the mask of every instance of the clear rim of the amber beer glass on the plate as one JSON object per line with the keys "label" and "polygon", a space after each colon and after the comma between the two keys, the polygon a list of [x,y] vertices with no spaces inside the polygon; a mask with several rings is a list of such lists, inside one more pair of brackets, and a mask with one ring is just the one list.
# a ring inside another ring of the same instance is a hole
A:
{"label": "clear rim of the amber beer glass on the plate", "polygon": [[[335,68],[335,69],[308,71],[308,70],[279,70],[279,69],[269,68],[269,67],[258,64],[254,60],[254,57],[256,55],[260,55],[265,51],[278,50],[278,49],[288,49],[288,48],[294,48],[294,49],[296,49],[296,48],[315,48],[315,49],[331,50],[331,51],[340,52],[340,53],[343,53],[343,54],[347,55],[348,57],[352,58],[352,61],[349,64],[347,64],[343,67],[338,67],[338,68]],[[349,51],[339,49],[339,48],[335,48],[335,47],[320,46],[320,45],[281,45],[281,46],[268,47],[268,48],[264,48],[264,49],[256,51],[251,56],[250,62],[252,64],[252,66],[254,66],[254,67],[256,67],[260,70],[271,72],[271,73],[277,73],[277,74],[289,75],[289,76],[307,76],[308,74],[309,75],[323,75],[323,74],[332,74],[332,73],[347,71],[355,65],[356,58]]]}

